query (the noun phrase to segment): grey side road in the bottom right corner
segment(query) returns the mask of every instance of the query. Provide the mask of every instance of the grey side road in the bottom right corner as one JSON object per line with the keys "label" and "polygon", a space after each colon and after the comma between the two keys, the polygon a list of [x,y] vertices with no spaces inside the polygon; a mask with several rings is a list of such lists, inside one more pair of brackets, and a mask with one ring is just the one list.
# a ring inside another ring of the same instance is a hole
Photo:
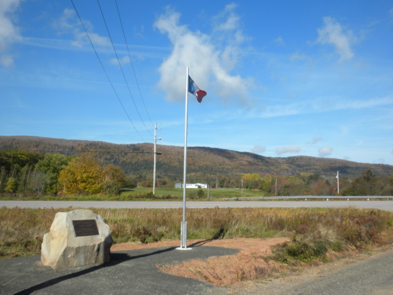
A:
{"label": "grey side road in the bottom right corner", "polygon": [[294,277],[256,284],[253,291],[245,294],[392,295],[393,250],[336,268],[328,266],[323,272],[307,278]]}

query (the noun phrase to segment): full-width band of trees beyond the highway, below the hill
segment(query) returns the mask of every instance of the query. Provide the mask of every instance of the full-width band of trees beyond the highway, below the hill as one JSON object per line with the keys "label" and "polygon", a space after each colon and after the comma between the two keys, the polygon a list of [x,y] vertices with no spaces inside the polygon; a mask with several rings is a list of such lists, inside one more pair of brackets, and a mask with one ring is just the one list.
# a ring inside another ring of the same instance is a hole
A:
{"label": "full-width band of trees beyond the highway, below the hill", "polygon": [[[82,152],[73,156],[60,153],[45,155],[24,150],[0,150],[0,193],[36,193],[38,195],[118,195],[124,187],[152,187],[152,174],[134,171],[126,175],[100,153]],[[200,179],[204,179],[201,181]],[[377,177],[366,169],[359,177],[327,178],[302,172],[297,176],[271,174],[225,175],[191,172],[188,182],[208,182],[221,188],[259,190],[265,196],[392,196],[393,175]],[[157,187],[173,187],[177,178],[158,177]]]}

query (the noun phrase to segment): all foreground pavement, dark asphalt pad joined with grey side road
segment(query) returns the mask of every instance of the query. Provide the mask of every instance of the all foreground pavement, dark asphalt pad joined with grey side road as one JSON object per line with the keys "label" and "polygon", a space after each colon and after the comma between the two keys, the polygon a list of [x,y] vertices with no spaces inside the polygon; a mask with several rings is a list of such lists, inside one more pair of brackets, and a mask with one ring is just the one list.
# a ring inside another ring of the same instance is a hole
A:
{"label": "all foreground pavement, dark asphalt pad joined with grey side road", "polygon": [[190,259],[231,255],[236,249],[195,246],[190,251],[151,248],[111,253],[103,266],[53,270],[39,266],[40,257],[0,260],[0,294],[209,294],[209,295],[391,295],[393,250],[351,264],[327,267],[307,277],[266,280],[236,292],[159,271],[165,265]]}

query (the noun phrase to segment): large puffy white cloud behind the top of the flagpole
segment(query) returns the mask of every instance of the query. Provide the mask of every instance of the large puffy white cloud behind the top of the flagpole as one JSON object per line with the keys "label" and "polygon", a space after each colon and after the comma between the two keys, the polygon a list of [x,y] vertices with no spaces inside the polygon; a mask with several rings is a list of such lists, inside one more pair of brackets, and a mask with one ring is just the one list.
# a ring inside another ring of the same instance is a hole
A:
{"label": "large puffy white cloud behind the top of the flagpole", "polygon": [[[186,67],[199,88],[228,101],[235,99],[250,105],[248,90],[253,87],[251,79],[231,75],[230,71],[238,60],[237,50],[247,38],[238,29],[239,18],[234,14],[235,5],[227,5],[214,20],[212,35],[191,31],[179,24],[180,14],[171,11],[161,15],[154,26],[163,34],[168,34],[172,52],[161,64],[158,86],[164,89],[169,101],[184,99]],[[219,22],[222,20],[221,22]],[[216,38],[217,34],[217,38]]]}

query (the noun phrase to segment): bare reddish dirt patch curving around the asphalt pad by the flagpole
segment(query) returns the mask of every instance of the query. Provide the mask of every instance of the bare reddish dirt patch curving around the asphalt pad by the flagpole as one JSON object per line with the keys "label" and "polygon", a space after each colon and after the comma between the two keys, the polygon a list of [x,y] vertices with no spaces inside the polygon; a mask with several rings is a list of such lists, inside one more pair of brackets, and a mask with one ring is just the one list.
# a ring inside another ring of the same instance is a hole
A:
{"label": "bare reddish dirt patch curving around the asphalt pad by the flagpole", "polygon": [[[287,237],[188,240],[188,247],[216,246],[240,249],[240,252],[230,256],[211,257],[207,260],[190,260],[178,265],[157,267],[169,274],[194,278],[213,283],[216,286],[235,285],[242,281],[257,279],[276,272],[279,266],[273,261],[268,262],[266,257],[271,254],[272,246],[286,241],[288,241]],[[112,245],[111,251],[172,246],[180,246],[180,241],[160,241],[149,244],[119,243]]]}

